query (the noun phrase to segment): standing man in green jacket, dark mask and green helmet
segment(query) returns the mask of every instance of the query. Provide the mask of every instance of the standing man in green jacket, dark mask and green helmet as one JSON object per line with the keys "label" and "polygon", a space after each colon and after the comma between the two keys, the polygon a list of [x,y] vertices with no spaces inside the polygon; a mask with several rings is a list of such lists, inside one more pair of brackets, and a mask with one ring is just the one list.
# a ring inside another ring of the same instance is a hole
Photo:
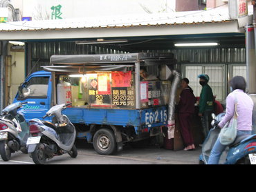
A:
{"label": "standing man in green jacket, dark mask and green helmet", "polygon": [[208,85],[209,76],[207,74],[201,74],[198,77],[200,78],[199,84],[203,86],[199,100],[199,116],[201,117],[203,126],[203,135],[206,137],[210,129],[211,114],[214,109],[213,94],[212,88]]}

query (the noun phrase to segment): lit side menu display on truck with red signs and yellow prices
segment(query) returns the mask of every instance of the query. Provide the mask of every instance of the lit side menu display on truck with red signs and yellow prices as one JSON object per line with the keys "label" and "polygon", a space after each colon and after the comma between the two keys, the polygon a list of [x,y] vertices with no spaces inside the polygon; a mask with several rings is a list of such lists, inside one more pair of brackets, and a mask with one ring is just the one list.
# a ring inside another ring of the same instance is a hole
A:
{"label": "lit side menu display on truck with red signs and yellow prices", "polygon": [[134,108],[131,71],[87,74],[89,104],[111,108]]}

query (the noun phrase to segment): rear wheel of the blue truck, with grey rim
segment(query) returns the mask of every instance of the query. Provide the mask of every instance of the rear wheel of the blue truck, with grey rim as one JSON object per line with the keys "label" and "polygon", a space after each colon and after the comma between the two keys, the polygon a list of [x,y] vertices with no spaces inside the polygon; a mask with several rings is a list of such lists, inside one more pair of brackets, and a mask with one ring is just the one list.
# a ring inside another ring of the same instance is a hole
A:
{"label": "rear wheel of the blue truck, with grey rim", "polygon": [[111,155],[116,152],[116,138],[113,131],[101,128],[93,136],[93,148],[100,155]]}

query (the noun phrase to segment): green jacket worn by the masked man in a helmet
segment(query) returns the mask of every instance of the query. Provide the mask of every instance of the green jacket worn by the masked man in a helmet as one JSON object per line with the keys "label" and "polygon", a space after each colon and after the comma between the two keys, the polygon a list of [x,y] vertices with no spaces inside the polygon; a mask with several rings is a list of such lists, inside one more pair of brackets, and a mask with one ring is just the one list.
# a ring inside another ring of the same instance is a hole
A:
{"label": "green jacket worn by the masked man in a helmet", "polygon": [[213,110],[212,88],[208,84],[205,84],[200,93],[199,113],[203,113],[204,111],[212,111],[212,110]]}

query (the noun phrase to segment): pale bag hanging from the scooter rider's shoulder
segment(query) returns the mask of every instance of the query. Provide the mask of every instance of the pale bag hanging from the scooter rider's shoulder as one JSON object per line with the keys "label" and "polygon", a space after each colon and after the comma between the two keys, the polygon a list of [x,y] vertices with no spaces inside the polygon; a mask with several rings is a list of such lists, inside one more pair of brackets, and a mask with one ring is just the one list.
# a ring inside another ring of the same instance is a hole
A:
{"label": "pale bag hanging from the scooter rider's shoulder", "polygon": [[227,122],[223,128],[221,128],[221,132],[219,133],[219,142],[223,145],[232,144],[237,137],[237,97],[235,97],[235,113],[232,117],[232,122]]}

